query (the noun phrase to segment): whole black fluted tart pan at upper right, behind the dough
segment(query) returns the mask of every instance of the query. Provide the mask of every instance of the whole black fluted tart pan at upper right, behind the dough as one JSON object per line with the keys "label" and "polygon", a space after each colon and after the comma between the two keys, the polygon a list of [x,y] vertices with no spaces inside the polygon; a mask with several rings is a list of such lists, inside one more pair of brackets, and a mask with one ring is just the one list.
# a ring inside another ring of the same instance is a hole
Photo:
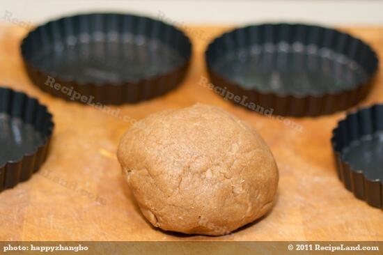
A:
{"label": "whole black fluted tart pan at upper right, behind the dough", "polygon": [[205,59],[212,84],[238,95],[236,103],[281,116],[319,116],[357,104],[378,66],[361,40],[306,24],[235,29],[216,38]]}

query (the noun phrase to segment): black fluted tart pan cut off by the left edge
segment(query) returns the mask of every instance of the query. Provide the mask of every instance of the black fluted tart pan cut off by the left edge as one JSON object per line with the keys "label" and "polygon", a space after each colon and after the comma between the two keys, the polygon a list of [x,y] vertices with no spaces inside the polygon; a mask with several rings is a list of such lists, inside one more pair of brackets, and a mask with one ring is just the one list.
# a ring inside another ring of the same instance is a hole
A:
{"label": "black fluted tart pan cut off by the left edge", "polygon": [[53,128],[52,114],[36,98],[0,87],[0,192],[38,171]]}

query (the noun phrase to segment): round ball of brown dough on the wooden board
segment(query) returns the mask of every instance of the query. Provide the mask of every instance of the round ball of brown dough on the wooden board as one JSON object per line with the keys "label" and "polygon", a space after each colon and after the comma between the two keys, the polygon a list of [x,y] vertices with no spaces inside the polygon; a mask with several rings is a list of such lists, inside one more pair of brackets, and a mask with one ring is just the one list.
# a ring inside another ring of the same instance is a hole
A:
{"label": "round ball of brown dough on the wooden board", "polygon": [[224,235],[272,208],[278,169],[251,125],[210,105],[130,127],[118,160],[139,208],[166,231]]}

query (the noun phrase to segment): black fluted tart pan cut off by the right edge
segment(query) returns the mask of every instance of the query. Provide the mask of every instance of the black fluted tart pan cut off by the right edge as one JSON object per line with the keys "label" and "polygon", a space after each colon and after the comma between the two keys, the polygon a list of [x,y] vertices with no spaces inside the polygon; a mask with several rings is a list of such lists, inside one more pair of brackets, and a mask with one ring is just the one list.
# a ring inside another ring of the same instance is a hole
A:
{"label": "black fluted tart pan cut off by the right edge", "polygon": [[383,208],[383,105],[348,114],[331,139],[338,177],[358,199]]}

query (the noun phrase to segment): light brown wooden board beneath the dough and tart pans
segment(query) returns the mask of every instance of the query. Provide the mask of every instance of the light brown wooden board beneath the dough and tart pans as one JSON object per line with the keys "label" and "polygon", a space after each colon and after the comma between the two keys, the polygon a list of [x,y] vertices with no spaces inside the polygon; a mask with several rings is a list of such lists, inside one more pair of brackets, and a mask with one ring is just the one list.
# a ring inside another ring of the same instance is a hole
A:
{"label": "light brown wooden board beneath the dough and tart pans", "polygon": [[[0,240],[383,240],[382,210],[354,198],[336,176],[331,130],[344,113],[319,118],[262,116],[222,100],[198,85],[206,77],[203,52],[227,27],[191,26],[194,54],[185,81],[170,93],[137,105],[94,107],[65,102],[31,84],[19,52],[23,27],[0,26],[0,84],[38,98],[56,127],[47,162],[30,180],[0,194]],[[383,59],[383,27],[345,28],[369,42]],[[382,69],[382,62],[380,64]],[[136,206],[116,160],[116,146],[131,123],[155,111],[195,102],[218,105],[258,130],[279,166],[276,204],[263,219],[230,235],[180,235],[154,229]],[[383,102],[382,71],[361,105]],[[123,121],[125,118],[125,121]]]}

